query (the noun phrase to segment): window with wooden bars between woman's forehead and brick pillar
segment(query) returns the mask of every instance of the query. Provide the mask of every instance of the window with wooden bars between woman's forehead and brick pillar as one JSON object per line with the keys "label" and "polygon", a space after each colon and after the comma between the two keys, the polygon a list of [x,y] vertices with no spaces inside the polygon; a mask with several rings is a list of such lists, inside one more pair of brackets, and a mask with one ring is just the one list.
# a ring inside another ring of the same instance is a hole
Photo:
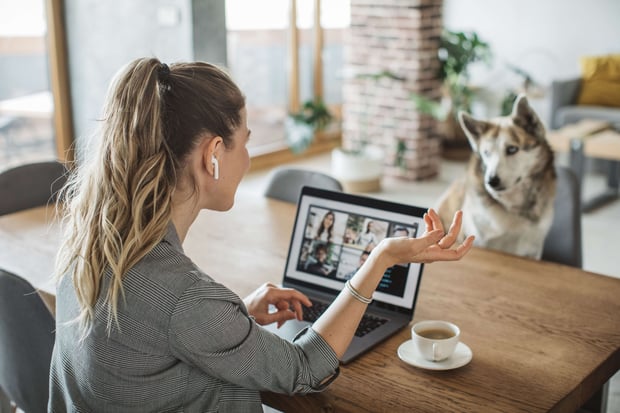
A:
{"label": "window with wooden bars between woman's forehead and brick pillar", "polygon": [[253,158],[288,151],[286,115],[315,97],[336,116],[339,136],[349,10],[349,0],[226,1],[227,66],[246,95]]}

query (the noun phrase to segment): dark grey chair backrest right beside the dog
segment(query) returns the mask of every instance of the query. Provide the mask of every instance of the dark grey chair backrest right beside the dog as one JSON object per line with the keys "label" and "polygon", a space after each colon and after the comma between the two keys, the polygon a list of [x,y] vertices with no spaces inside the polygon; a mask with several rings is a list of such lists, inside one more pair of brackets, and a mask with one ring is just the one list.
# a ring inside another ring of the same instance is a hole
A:
{"label": "dark grey chair backrest right beside the dog", "polygon": [[542,259],[582,267],[581,193],[572,169],[558,166],[553,223],[545,239]]}

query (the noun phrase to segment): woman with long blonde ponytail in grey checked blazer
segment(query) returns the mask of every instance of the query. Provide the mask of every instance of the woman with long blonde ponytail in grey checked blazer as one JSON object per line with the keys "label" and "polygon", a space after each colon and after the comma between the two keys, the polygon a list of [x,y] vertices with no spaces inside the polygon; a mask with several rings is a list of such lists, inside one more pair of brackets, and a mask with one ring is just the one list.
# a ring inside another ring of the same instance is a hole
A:
{"label": "woman with long blonde ponytail in grey checked blazer", "polygon": [[261,390],[322,390],[388,267],[470,249],[450,248],[460,213],[444,234],[431,211],[422,238],[380,243],[295,343],[260,328],[310,301],[272,285],[242,300],[181,246],[200,210],[233,205],[250,163],[244,106],[207,63],[137,59],[115,78],[100,147],[64,194],[49,411],[259,412]]}

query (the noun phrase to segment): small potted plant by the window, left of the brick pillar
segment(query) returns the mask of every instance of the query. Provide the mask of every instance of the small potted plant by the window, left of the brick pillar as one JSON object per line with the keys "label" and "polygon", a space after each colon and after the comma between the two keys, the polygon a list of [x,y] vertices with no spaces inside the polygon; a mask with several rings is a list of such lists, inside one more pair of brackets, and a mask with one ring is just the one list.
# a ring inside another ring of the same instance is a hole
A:
{"label": "small potted plant by the window, left of the brick pillar", "polygon": [[293,153],[302,153],[314,140],[316,132],[325,129],[333,116],[321,98],[304,102],[297,113],[290,113],[285,120],[286,140]]}

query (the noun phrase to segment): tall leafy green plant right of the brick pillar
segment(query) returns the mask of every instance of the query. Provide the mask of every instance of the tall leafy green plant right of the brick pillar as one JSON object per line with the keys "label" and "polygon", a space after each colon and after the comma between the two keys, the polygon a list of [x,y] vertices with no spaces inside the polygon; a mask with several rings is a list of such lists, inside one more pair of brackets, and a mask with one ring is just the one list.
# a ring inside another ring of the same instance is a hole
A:
{"label": "tall leafy green plant right of the brick pillar", "polygon": [[[471,113],[475,91],[470,85],[470,65],[475,62],[489,64],[491,61],[489,44],[476,32],[457,32],[445,30],[441,36],[438,50],[440,62],[439,78],[443,83],[440,102],[423,95],[411,94],[416,109],[440,121],[439,133],[442,136],[444,156],[454,150],[461,157],[462,149],[469,156],[467,138],[456,119],[459,110]],[[448,156],[451,157],[451,156]]]}

